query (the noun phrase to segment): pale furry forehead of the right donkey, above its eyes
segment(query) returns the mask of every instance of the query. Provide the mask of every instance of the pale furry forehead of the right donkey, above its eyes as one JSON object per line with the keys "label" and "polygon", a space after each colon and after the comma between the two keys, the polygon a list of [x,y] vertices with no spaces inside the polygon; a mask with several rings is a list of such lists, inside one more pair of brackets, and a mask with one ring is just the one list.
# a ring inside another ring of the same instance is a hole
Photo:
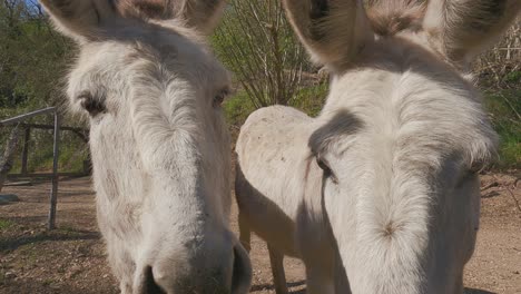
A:
{"label": "pale furry forehead of the right donkey, above its eyes", "polygon": [[350,150],[360,158],[375,150],[430,168],[444,168],[454,157],[469,165],[493,159],[497,135],[471,85],[444,63],[430,65],[431,57],[396,56],[334,78],[312,150]]}

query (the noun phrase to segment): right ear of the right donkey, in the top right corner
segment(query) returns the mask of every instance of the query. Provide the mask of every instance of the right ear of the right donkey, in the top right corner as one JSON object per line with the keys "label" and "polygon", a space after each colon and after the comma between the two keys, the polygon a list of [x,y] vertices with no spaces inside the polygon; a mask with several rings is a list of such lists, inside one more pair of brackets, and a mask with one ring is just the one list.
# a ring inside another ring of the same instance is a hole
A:
{"label": "right ear of the right donkey, in the top right corner", "polygon": [[450,60],[469,65],[509,28],[520,0],[431,0],[423,27]]}

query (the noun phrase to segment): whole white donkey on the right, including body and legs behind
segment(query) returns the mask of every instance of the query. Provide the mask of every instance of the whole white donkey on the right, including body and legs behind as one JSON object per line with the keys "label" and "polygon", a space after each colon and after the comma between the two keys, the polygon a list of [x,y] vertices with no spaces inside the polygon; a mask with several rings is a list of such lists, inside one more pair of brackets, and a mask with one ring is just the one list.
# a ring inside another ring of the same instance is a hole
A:
{"label": "whole white donkey on the right, including body and legs behind", "polygon": [[463,292],[479,226],[478,171],[497,135],[463,74],[519,0],[284,0],[332,75],[316,119],[254,112],[236,151],[240,239],[304,261],[312,294]]}

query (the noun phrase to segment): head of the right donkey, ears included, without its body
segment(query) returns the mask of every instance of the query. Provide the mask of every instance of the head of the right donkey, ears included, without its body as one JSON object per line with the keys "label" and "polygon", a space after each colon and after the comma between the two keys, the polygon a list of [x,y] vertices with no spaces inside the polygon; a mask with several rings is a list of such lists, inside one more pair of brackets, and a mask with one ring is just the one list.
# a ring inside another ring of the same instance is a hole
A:
{"label": "head of the right donkey, ears included, without its body", "polygon": [[309,148],[351,290],[462,293],[479,225],[476,173],[497,144],[462,71],[521,1],[284,4],[313,60],[332,74]]}

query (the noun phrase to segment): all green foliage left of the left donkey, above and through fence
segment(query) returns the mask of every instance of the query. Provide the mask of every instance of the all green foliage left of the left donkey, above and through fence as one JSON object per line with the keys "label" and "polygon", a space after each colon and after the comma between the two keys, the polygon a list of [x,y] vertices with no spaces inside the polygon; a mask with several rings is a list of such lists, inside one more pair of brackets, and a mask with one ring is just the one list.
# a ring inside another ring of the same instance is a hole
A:
{"label": "all green foliage left of the left donkey, above and through fence", "polygon": [[[0,119],[62,104],[62,85],[75,53],[72,43],[55,32],[36,1],[9,0],[0,3]],[[83,126],[65,117],[65,126]],[[52,125],[52,116],[24,122]],[[0,129],[0,154],[11,128]],[[86,145],[63,131],[60,140],[60,171],[81,170]],[[21,138],[12,171],[20,170]],[[80,150],[78,150],[80,149]],[[52,167],[52,131],[31,133],[29,171]]]}

